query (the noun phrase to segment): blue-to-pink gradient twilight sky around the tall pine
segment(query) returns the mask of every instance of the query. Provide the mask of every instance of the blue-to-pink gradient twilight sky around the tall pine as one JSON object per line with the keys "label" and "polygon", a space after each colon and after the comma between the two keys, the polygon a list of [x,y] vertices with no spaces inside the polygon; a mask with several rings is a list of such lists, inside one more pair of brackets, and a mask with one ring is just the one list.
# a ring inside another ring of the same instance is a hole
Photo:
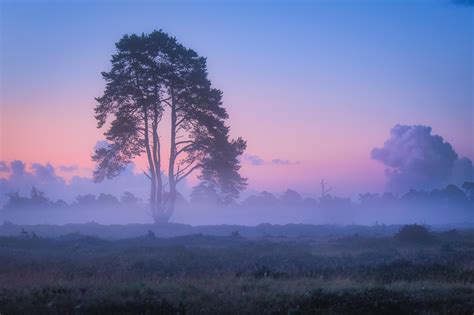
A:
{"label": "blue-to-pink gradient twilight sky around the tall pine", "polygon": [[[50,163],[66,180],[90,176],[104,131],[93,118],[100,73],[124,34],[155,29],[207,57],[231,133],[247,140],[249,192],[319,194],[321,179],[341,195],[384,191],[393,165],[372,152],[398,124],[431,127],[420,137],[440,135],[459,158],[474,159],[472,5],[0,3],[1,161]],[[421,129],[410,130],[419,139]],[[136,161],[135,173],[144,168]]]}

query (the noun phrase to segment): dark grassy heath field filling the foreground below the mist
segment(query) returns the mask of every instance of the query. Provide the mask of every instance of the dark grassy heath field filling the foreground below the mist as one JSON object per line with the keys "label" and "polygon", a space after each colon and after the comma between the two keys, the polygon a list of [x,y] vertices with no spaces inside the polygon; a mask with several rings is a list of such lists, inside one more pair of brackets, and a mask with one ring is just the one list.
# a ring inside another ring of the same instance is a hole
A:
{"label": "dark grassy heath field filling the foreground below the mist", "polygon": [[473,313],[474,230],[374,229],[99,238],[25,228],[0,237],[0,313]]}

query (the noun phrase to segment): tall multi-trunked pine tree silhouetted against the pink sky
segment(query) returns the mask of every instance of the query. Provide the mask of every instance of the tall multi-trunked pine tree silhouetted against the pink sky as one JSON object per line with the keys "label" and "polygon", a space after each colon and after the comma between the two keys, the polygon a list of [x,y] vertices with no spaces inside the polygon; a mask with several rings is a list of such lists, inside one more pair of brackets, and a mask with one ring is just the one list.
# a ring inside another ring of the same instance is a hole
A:
{"label": "tall multi-trunked pine tree silhouetted against the pink sky", "polygon": [[[237,198],[246,185],[238,159],[246,143],[229,138],[222,92],[207,77],[206,59],[162,31],[125,35],[116,48],[111,70],[102,73],[105,91],[96,98],[98,128],[109,117],[112,121],[104,133],[108,145],[92,157],[97,164],[94,179],[113,178],[145,154],[157,223],[169,220],[177,184],[194,172],[214,185],[222,200]],[[167,165],[159,129],[164,117],[170,126]]]}

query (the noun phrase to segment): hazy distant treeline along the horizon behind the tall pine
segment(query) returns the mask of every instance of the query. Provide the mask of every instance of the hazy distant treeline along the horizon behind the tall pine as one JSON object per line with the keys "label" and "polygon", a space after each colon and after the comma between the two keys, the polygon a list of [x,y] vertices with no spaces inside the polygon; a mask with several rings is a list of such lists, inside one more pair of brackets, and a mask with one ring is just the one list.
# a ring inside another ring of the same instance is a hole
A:
{"label": "hazy distant treeline along the horizon behind the tall pine", "polygon": [[[3,210],[14,210],[21,208],[61,208],[61,207],[142,207],[146,205],[142,199],[130,192],[124,192],[120,197],[111,194],[101,193],[99,195],[85,194],[79,195],[76,199],[67,203],[64,200],[53,201],[44,192],[33,187],[29,197],[21,196],[18,192],[7,194],[8,201],[3,206]],[[179,195],[181,206],[241,206],[252,208],[288,208],[288,207],[350,207],[353,205],[362,206],[383,206],[393,204],[419,204],[419,203],[473,203],[474,202],[474,182],[465,182],[461,188],[456,185],[448,185],[444,189],[434,189],[432,191],[417,191],[411,189],[405,194],[396,195],[393,193],[365,193],[359,194],[358,202],[351,198],[338,197],[326,193],[319,198],[303,198],[298,192],[288,189],[281,196],[263,191],[257,195],[251,195],[240,203],[226,204],[219,199],[217,192],[206,186],[195,189],[187,201]]]}

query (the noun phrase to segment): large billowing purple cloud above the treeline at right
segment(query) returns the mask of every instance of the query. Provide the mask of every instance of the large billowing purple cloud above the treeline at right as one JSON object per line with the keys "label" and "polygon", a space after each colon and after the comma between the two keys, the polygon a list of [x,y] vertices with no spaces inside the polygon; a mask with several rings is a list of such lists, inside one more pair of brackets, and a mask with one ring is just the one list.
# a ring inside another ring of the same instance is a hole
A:
{"label": "large billowing purple cloud above the treeline at right", "polygon": [[451,144],[431,134],[428,126],[396,125],[371,157],[387,166],[388,189],[394,192],[459,185],[473,177],[472,162],[459,159]]}

